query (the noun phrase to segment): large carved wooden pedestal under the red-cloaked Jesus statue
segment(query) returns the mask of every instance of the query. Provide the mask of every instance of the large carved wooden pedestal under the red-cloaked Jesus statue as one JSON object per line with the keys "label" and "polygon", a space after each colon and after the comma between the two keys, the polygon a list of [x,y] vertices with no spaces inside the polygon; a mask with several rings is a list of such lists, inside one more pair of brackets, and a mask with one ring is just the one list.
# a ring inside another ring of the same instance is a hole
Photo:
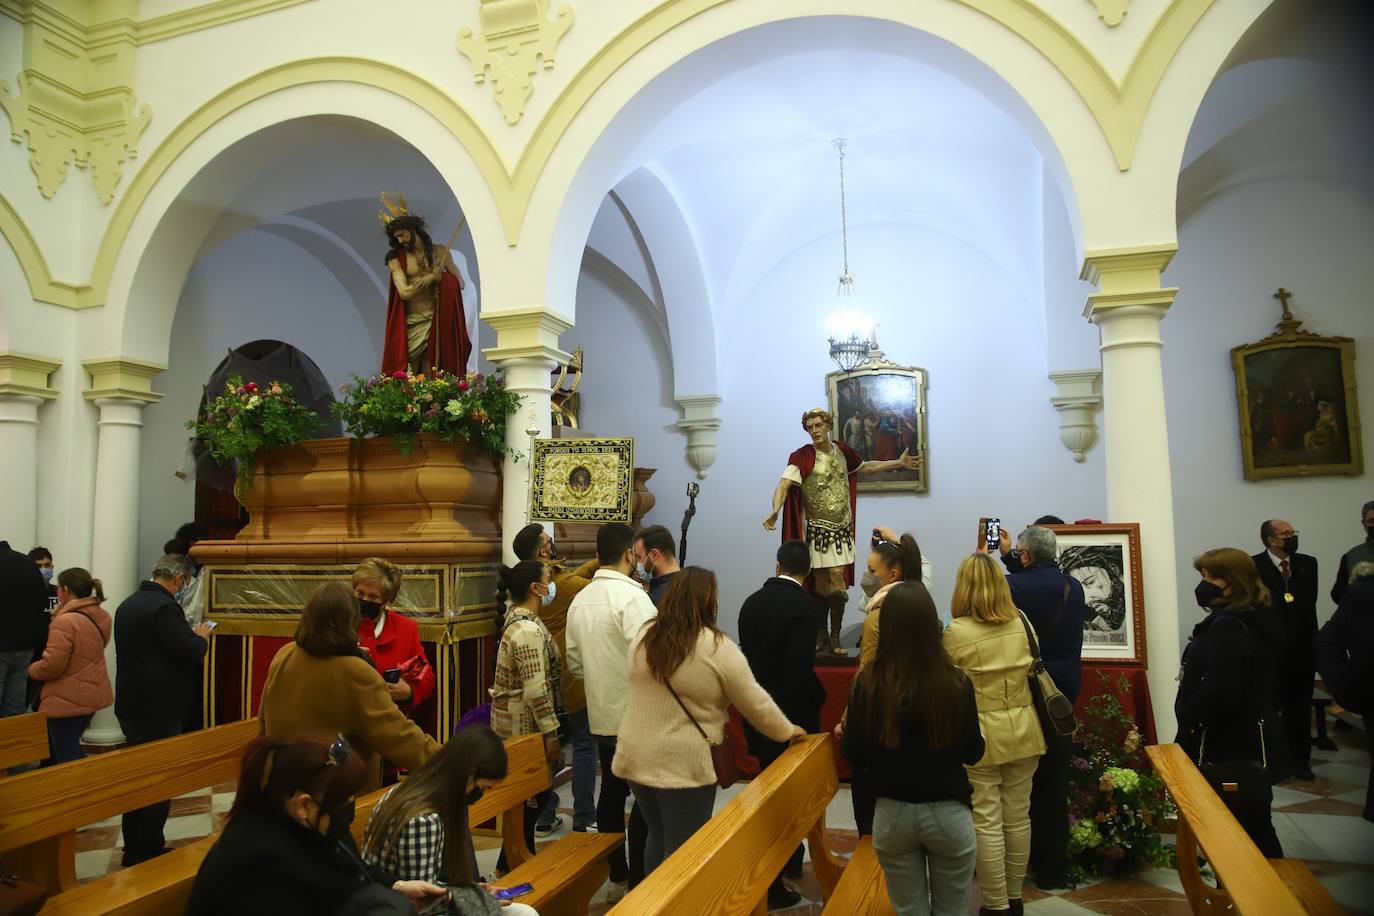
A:
{"label": "large carved wooden pedestal under the red-cloaked Jesus statue", "polygon": [[[646,488],[653,472],[635,474],[636,523],[654,503]],[[206,618],[217,622],[205,670],[207,725],[257,714],[268,665],[295,633],[311,593],[350,581],[368,556],[401,567],[392,608],[419,625],[434,666],[436,695],[415,710],[420,726],[447,737],[464,711],[486,702],[499,619],[500,461],[433,435],[405,455],[390,439],[312,439],[260,453],[238,496],[249,525],[232,541],[191,551],[203,567]],[[558,526],[555,537],[567,556],[595,553],[595,526]]]}

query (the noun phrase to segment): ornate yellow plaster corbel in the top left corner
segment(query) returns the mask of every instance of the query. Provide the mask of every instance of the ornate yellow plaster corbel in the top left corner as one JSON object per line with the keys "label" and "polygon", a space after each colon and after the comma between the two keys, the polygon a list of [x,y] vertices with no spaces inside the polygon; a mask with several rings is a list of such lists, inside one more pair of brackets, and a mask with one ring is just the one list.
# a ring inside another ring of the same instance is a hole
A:
{"label": "ornate yellow plaster corbel in the top left corner", "polygon": [[43,196],[51,198],[76,162],[91,168],[103,203],[114,199],[124,162],[137,155],[139,137],[153,117],[133,93],[135,44],[129,19],[133,0],[111,0],[111,34],[92,47],[85,26],[54,5],[23,0],[23,67],[18,95],[0,80],[0,107],[10,136],[29,146],[29,168]]}

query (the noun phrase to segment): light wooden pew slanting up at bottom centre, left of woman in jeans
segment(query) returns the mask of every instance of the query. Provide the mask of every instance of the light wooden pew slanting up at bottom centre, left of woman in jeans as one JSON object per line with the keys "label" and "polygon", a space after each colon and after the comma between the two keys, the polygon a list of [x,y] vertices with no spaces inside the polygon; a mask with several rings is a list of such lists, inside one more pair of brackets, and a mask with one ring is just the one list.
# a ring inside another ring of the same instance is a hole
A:
{"label": "light wooden pew slanting up at bottom centre, left of woman in jeans", "polygon": [[824,836],[826,806],[837,786],[830,735],[801,739],[610,912],[761,916],[768,909],[768,886],[802,838],[829,900],[845,865],[829,851]]}

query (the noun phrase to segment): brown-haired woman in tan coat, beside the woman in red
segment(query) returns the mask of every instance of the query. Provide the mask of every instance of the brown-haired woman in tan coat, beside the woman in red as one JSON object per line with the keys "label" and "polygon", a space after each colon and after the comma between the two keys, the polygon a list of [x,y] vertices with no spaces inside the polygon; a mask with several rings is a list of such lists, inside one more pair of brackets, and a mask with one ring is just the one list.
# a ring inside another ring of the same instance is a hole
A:
{"label": "brown-haired woman in tan coat, beside the woman in red", "polygon": [[357,648],[357,599],[342,582],[315,589],[295,640],[267,673],[258,721],[264,735],[294,740],[304,732],[339,733],[367,764],[363,792],[382,786],[382,757],[415,769],[438,744],[405,718],[386,681]]}

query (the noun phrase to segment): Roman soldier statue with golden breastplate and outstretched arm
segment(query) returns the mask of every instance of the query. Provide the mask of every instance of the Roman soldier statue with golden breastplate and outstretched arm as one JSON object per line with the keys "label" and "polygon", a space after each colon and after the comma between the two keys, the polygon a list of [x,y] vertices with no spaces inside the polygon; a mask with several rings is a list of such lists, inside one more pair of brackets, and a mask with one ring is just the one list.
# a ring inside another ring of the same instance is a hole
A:
{"label": "Roman soldier statue with golden breastplate and outstretched arm", "polygon": [[[864,461],[857,452],[830,438],[834,419],[815,408],[801,415],[801,428],[811,435],[787,456],[787,468],[774,490],[772,512],[764,527],[774,530],[782,511],[782,538],[805,538],[811,548],[812,588],[830,608],[830,652],[840,647],[840,622],[845,615],[848,586],[855,584],[855,503],[860,474],[915,470],[921,459],[903,452],[889,461]],[[818,648],[824,643],[822,633]]]}

